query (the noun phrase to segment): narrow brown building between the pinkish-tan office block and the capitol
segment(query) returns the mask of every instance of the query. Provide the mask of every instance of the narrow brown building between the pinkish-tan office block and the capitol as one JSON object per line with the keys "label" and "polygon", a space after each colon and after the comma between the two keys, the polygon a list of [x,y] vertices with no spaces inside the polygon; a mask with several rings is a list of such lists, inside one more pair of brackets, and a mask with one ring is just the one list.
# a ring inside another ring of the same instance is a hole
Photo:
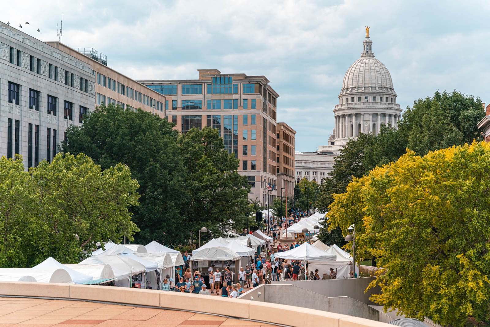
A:
{"label": "narrow brown building between the pinkish-tan office block and the capitol", "polygon": [[276,133],[276,173],[277,196],[294,195],[294,135],[296,131],[286,123],[277,123]]}

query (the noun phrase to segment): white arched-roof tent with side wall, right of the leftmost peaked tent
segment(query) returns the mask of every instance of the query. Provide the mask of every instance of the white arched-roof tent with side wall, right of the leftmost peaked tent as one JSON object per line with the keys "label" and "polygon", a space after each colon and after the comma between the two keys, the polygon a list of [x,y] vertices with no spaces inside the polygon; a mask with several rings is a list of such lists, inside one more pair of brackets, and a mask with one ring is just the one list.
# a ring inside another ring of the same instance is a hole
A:
{"label": "white arched-roof tent with side wall, right of the leftmost peaked tent", "polygon": [[110,265],[114,272],[114,277],[116,277],[116,286],[123,287],[131,287],[130,278],[146,271],[146,267],[138,261],[121,255],[93,255],[80,263],[89,265]]}

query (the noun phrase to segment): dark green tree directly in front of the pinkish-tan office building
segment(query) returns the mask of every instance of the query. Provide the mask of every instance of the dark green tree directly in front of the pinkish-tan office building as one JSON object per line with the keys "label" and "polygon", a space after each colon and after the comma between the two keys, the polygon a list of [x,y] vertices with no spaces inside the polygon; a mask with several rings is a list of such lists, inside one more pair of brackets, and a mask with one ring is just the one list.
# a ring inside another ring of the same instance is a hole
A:
{"label": "dark green tree directly in front of the pinkish-tan office building", "polygon": [[[207,227],[207,237],[221,236],[225,225],[246,221],[248,192],[246,176],[238,174],[239,160],[224,149],[218,130],[192,128],[179,136],[178,147],[184,162],[185,228]],[[201,235],[202,237],[202,235]]]}

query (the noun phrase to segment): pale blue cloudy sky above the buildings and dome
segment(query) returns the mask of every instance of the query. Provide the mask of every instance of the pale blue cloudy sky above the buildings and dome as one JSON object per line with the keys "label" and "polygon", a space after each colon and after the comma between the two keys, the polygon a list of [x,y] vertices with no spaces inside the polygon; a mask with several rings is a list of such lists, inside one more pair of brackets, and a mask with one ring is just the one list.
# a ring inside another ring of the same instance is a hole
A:
{"label": "pale blue cloudy sky above the buildings and dome", "polygon": [[265,75],[296,151],[327,144],[366,25],[403,109],[436,90],[490,102],[490,1],[23,0],[2,6],[0,21],[56,41],[62,14],[63,43],[104,53],[136,80],[197,79],[207,68]]}

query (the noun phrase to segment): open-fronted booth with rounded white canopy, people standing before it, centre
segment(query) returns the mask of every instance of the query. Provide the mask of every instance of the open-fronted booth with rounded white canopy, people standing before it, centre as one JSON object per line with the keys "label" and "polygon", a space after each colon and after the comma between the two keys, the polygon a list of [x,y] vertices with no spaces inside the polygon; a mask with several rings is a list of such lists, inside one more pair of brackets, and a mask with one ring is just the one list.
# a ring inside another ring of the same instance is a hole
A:
{"label": "open-fronted booth with rounded white canopy, people standing before it, centre", "polygon": [[[214,265],[215,270],[220,268],[220,272],[223,275],[224,268],[229,266],[232,272],[233,282],[236,283],[238,280],[241,259],[242,257],[240,254],[229,248],[222,246],[207,248],[197,252],[196,255],[191,257],[191,268],[199,270],[204,281],[209,286],[208,269],[211,265]],[[223,275],[221,277],[223,277]]]}

